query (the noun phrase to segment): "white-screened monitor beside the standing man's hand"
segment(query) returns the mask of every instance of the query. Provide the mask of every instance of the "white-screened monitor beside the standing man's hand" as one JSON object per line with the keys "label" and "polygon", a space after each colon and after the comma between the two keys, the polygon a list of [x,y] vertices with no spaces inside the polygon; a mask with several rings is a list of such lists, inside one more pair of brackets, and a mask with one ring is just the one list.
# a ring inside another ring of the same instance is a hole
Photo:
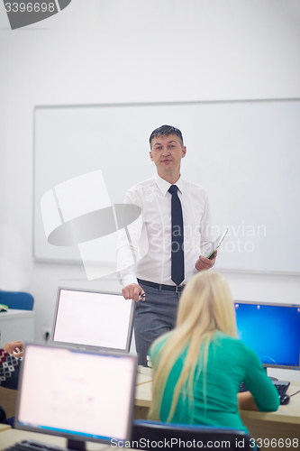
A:
{"label": "white-screened monitor beside the standing man's hand", "polygon": [[59,287],[50,342],[129,353],[134,307],[120,293]]}

